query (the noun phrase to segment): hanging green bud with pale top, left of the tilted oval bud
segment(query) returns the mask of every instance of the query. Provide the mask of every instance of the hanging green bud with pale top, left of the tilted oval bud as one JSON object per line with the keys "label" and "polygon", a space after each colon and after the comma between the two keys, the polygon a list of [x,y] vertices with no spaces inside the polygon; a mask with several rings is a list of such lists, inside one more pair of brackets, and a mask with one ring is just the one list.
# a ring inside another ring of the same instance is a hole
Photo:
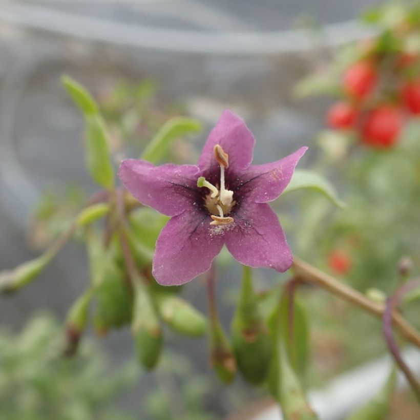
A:
{"label": "hanging green bud with pale top, left of the tilted oval bud", "polygon": [[153,369],[162,350],[162,330],[149,290],[135,285],[134,313],[131,331],[137,358],[146,369]]}

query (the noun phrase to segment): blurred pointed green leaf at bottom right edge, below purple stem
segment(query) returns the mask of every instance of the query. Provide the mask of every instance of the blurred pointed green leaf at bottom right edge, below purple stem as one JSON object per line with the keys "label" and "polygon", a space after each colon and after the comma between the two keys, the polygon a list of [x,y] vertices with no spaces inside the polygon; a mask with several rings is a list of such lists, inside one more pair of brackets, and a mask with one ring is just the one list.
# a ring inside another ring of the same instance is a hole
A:
{"label": "blurred pointed green leaf at bottom right edge, below purple stem", "polygon": [[392,369],[388,380],[372,400],[351,414],[347,420],[382,420],[386,417],[391,396],[395,388],[396,369]]}

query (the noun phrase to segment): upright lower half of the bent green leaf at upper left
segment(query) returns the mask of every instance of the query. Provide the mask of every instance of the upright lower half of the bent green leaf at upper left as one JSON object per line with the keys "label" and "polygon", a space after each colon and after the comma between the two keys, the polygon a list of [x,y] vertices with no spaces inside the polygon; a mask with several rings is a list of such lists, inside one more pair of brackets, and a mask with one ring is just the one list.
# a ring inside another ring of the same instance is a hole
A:
{"label": "upright lower half of the bent green leaf at upper left", "polygon": [[102,117],[86,117],[86,166],[91,177],[102,187],[114,186],[114,168]]}

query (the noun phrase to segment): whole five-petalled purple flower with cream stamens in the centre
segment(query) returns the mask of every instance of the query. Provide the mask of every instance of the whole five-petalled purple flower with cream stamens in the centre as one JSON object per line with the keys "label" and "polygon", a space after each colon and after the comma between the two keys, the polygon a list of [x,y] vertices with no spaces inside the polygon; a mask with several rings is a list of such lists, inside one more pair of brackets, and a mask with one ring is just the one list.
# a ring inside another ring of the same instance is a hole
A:
{"label": "whole five-petalled purple flower with cream stamens in the centre", "polygon": [[290,268],[293,257],[276,214],[275,200],[306,152],[250,165],[255,138],[244,121],[223,112],[197,165],[154,166],[123,160],[119,177],[141,203],[172,219],[156,242],[153,275],[163,285],[186,283],[208,270],[223,245],[251,267]]}

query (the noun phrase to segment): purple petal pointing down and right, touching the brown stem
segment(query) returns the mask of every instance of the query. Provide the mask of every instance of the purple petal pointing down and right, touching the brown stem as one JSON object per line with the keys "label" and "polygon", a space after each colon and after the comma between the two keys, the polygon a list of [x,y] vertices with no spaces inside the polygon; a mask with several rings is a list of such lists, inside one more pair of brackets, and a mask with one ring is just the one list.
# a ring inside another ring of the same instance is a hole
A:
{"label": "purple petal pointing down and right, touching the brown stem", "polygon": [[226,233],[227,249],[240,263],[277,271],[290,268],[293,257],[276,214],[265,203],[248,203],[235,214],[235,228]]}

